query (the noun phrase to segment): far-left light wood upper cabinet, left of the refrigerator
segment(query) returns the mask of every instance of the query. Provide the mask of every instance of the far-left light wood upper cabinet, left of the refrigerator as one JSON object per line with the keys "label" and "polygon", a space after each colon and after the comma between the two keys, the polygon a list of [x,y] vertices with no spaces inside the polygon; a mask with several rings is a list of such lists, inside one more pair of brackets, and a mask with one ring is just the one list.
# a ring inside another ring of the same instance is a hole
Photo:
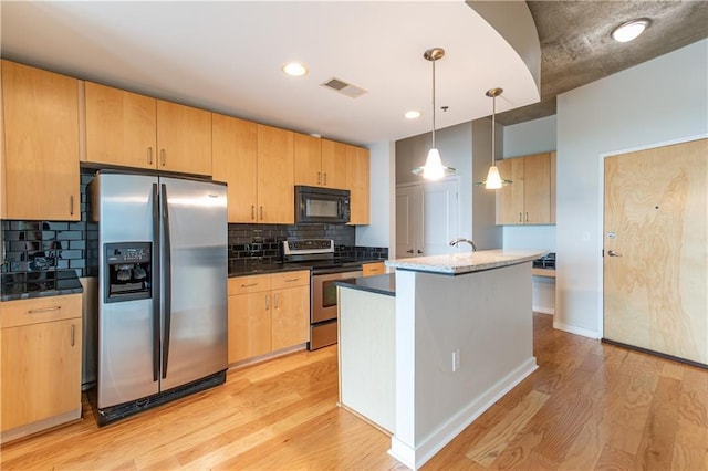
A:
{"label": "far-left light wood upper cabinet, left of the refrigerator", "polygon": [[2,61],[6,219],[77,221],[79,81]]}

